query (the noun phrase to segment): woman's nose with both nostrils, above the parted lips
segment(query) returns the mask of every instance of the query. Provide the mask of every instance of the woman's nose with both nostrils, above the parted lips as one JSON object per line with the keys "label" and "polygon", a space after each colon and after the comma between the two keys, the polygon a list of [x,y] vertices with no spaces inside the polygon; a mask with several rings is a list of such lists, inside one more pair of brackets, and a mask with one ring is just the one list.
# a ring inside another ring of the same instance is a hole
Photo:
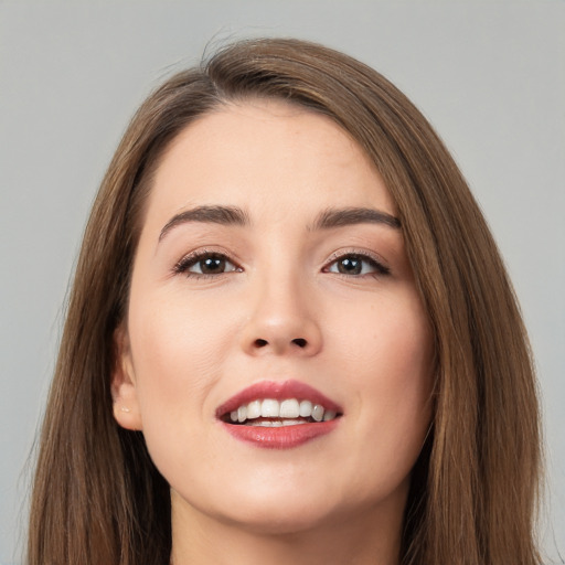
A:
{"label": "woman's nose with both nostrils, above the parted lips", "polygon": [[250,355],[316,355],[322,333],[312,297],[299,278],[262,280],[253,289],[243,349]]}

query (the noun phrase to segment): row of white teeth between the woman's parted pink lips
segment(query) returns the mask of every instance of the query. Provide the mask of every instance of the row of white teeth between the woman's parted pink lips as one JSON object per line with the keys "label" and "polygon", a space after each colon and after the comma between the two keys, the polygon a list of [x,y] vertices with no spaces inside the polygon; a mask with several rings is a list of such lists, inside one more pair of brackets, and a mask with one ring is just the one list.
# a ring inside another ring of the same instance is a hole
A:
{"label": "row of white teeth between the woman's parted pink lips", "polygon": [[[287,398],[278,402],[274,398],[265,398],[263,401],[253,401],[249,404],[242,404],[236,411],[230,413],[230,419],[233,423],[247,423],[252,426],[279,427],[296,426],[307,424],[306,419],[295,418],[312,418],[315,422],[329,422],[337,417],[337,413],[326,409],[321,404],[312,404],[310,401],[300,401],[296,398]],[[257,418],[281,418],[279,420],[256,420]]]}

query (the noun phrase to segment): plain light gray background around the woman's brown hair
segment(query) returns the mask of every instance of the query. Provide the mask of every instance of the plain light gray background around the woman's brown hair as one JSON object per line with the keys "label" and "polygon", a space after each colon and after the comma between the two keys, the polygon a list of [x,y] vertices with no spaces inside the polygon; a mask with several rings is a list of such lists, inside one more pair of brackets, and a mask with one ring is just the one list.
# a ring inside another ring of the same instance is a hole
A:
{"label": "plain light gray background around the woman's brown hair", "polygon": [[543,395],[547,561],[565,552],[565,2],[0,0],[0,563],[30,466],[86,215],[129,116],[207,43],[295,35],[395,82],[492,226]]}

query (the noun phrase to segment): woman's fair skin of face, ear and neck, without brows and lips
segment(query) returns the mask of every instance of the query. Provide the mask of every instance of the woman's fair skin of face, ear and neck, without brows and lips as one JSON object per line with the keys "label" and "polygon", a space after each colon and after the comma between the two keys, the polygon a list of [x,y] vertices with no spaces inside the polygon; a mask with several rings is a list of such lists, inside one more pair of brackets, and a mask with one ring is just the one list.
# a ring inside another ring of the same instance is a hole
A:
{"label": "woman's fair skin of face, ear and neck, without brows and lips", "polygon": [[[249,223],[184,222],[160,237],[201,205],[238,206]],[[430,422],[431,334],[402,230],[311,228],[324,210],[352,206],[396,214],[361,148],[286,103],[222,106],[162,158],[113,393],[117,422],[143,430],[171,486],[175,565],[398,562]],[[194,250],[231,263],[207,277],[198,263],[175,271]],[[352,254],[371,258],[340,273],[337,257]],[[223,429],[215,411],[227,398],[288,379],[343,407],[332,433],[262,449]]]}

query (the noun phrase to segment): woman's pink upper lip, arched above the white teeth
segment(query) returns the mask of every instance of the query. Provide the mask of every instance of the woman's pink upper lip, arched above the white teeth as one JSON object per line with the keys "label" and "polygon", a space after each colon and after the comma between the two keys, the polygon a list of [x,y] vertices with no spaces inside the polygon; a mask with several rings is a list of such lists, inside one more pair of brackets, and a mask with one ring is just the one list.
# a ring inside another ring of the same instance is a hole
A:
{"label": "woman's pink upper lip, arched above the white teeth", "polygon": [[284,401],[296,398],[298,401],[310,401],[313,404],[321,404],[327,411],[334,411],[342,414],[343,409],[332,399],[328,398],[320,391],[299,381],[262,381],[238,392],[216,408],[216,417],[222,417],[232,411],[236,411],[243,404],[249,402],[274,398]]}

